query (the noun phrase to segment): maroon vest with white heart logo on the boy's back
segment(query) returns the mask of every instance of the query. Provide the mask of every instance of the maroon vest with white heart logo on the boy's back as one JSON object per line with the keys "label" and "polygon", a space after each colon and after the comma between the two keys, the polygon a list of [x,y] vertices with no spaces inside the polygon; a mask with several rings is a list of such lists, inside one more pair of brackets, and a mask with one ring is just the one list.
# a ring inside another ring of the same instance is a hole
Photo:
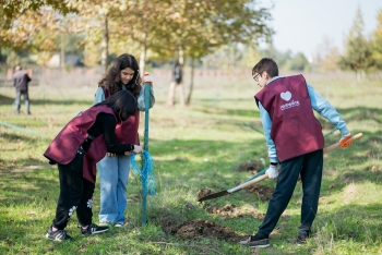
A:
{"label": "maroon vest with white heart logo on the boy's back", "polygon": [[324,147],[302,75],[272,81],[254,98],[270,113],[271,137],[280,162]]}

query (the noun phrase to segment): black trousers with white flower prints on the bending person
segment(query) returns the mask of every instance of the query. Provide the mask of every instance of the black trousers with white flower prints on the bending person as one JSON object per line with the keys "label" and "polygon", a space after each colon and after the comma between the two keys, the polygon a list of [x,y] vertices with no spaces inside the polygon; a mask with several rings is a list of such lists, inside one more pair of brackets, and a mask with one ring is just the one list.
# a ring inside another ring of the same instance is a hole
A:
{"label": "black trousers with white flower prints on the bending person", "polygon": [[92,223],[92,204],[95,184],[82,177],[82,166],[58,165],[60,177],[60,196],[57,203],[56,218],[52,226],[64,229],[74,211],[81,226]]}

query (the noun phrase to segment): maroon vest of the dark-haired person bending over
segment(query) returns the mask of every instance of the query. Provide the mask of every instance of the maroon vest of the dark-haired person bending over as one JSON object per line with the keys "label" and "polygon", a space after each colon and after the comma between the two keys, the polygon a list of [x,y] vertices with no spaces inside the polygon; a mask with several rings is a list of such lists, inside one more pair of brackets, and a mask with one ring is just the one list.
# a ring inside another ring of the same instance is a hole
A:
{"label": "maroon vest of the dark-haired person bending over", "polygon": [[[87,130],[94,124],[99,112],[110,113],[115,117],[114,111],[107,106],[91,107],[80,112],[50,143],[44,156],[61,165],[71,162],[76,150],[87,137]],[[95,183],[96,163],[105,157],[106,153],[107,147],[104,135],[102,134],[94,138],[89,149],[85,153],[83,166],[84,179]]]}

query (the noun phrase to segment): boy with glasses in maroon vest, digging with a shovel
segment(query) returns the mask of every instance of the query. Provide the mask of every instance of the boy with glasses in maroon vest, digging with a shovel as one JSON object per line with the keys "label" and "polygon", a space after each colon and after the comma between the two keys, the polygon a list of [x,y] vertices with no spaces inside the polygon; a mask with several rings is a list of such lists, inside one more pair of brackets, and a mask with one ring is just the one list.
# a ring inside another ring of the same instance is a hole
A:
{"label": "boy with glasses in maroon vest, digging with a shovel", "polygon": [[309,238],[317,215],[323,167],[324,137],[313,109],[341,131],[342,147],[351,144],[348,142],[351,135],[341,114],[302,75],[278,76],[276,62],[268,58],[253,66],[252,75],[262,88],[254,98],[268,147],[271,166],[266,173],[270,179],[277,178],[277,184],[256,234],[240,243],[251,247],[270,246],[268,236],[301,175],[303,197],[297,238],[300,245]]}

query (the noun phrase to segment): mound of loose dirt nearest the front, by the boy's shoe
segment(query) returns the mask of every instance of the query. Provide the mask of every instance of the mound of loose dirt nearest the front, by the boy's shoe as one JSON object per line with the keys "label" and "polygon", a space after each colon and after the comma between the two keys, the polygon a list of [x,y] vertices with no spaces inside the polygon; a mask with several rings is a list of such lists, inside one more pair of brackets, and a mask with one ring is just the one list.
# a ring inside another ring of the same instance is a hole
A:
{"label": "mound of loose dirt nearest the front, by the boy's shoe", "polygon": [[217,238],[231,242],[238,242],[244,236],[236,234],[227,227],[216,224],[208,220],[187,220],[186,222],[168,228],[169,233],[176,234],[184,239],[199,239],[202,236]]}

